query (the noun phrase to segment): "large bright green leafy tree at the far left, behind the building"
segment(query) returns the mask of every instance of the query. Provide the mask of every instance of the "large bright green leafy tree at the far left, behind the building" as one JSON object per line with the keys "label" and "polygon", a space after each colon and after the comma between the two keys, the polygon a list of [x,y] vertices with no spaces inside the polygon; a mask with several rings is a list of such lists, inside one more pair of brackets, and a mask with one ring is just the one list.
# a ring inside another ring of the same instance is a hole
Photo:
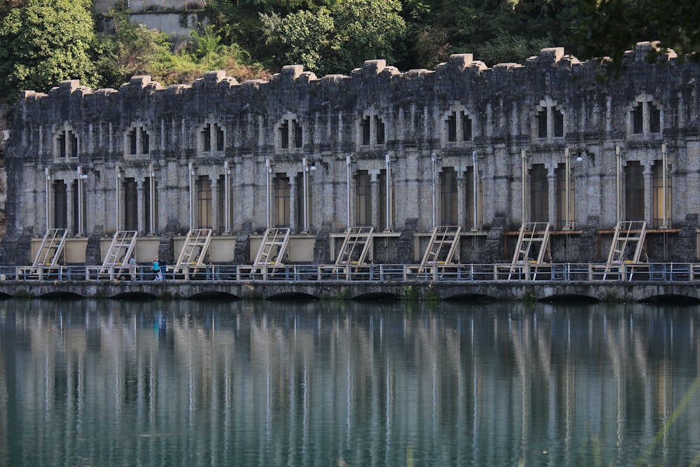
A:
{"label": "large bright green leafy tree at the far left, behind the building", "polygon": [[66,79],[94,87],[94,20],[87,0],[25,0],[0,19],[0,92],[45,91]]}

